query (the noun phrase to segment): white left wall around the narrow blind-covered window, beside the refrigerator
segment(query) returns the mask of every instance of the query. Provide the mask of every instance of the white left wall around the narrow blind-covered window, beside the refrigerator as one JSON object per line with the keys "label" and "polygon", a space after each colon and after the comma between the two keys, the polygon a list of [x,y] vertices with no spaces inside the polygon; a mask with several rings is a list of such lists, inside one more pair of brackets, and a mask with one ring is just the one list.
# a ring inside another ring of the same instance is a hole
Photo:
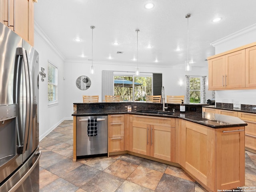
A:
{"label": "white left wall around the narrow blind-covered window, beside the refrigerator", "polygon": [[[34,48],[39,53],[39,69],[43,67],[46,72],[44,82],[39,78],[39,140],[42,140],[60,122],[64,120],[64,88],[63,76],[64,61],[56,52],[40,37],[34,34]],[[58,68],[58,104],[48,106],[48,60]]]}

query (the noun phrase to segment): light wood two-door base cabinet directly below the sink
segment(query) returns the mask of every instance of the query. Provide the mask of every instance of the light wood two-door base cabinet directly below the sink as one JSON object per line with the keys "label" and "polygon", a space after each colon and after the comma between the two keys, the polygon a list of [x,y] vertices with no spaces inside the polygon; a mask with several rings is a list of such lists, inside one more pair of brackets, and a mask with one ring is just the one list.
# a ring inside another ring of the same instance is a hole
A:
{"label": "light wood two-door base cabinet directly below the sink", "polygon": [[130,115],[130,151],[174,162],[175,119]]}

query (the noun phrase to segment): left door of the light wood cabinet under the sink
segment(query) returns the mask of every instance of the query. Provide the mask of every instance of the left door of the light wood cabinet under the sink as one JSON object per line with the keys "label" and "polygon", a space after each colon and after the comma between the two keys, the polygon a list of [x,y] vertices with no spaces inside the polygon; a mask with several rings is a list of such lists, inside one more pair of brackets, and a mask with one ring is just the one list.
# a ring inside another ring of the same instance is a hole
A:
{"label": "left door of the light wood cabinet under the sink", "polygon": [[150,125],[130,123],[130,151],[150,156]]}

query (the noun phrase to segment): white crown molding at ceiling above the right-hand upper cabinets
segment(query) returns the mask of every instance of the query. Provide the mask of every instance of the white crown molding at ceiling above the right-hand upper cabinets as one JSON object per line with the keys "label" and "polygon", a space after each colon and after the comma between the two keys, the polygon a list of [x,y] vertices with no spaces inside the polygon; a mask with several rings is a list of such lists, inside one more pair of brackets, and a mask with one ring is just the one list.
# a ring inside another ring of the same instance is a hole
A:
{"label": "white crown molding at ceiling above the right-hand upper cabinets", "polygon": [[250,25],[250,26],[248,26],[248,27],[246,27],[246,28],[244,28],[242,30],[239,30],[237,32],[234,32],[234,33],[226,36],[226,37],[223,37],[223,38],[221,38],[219,40],[216,40],[216,41],[210,43],[210,45],[215,47],[215,46],[217,46],[219,44],[222,44],[224,42],[233,40],[235,38],[241,37],[243,35],[249,34],[249,33],[254,32],[254,31],[256,31],[256,24],[252,24],[252,25]]}

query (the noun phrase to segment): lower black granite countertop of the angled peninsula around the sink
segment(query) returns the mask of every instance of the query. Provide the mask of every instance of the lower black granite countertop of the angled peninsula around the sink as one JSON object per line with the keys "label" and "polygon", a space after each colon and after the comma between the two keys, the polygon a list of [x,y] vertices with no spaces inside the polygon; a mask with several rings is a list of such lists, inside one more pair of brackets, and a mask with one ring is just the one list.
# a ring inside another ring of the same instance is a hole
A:
{"label": "lower black granite countertop of the angled peninsula around the sink", "polygon": [[72,116],[102,116],[108,114],[135,114],[135,115],[147,115],[147,116],[159,116],[159,117],[168,117],[168,118],[181,118],[184,120],[188,120],[191,122],[195,122],[204,126],[208,126],[211,128],[228,128],[228,127],[239,127],[246,126],[247,124],[240,120],[237,117],[206,113],[206,112],[174,112],[174,114],[148,114],[138,112],[138,110],[131,110],[128,112],[127,110],[84,110],[83,113],[77,114],[74,112]]}

